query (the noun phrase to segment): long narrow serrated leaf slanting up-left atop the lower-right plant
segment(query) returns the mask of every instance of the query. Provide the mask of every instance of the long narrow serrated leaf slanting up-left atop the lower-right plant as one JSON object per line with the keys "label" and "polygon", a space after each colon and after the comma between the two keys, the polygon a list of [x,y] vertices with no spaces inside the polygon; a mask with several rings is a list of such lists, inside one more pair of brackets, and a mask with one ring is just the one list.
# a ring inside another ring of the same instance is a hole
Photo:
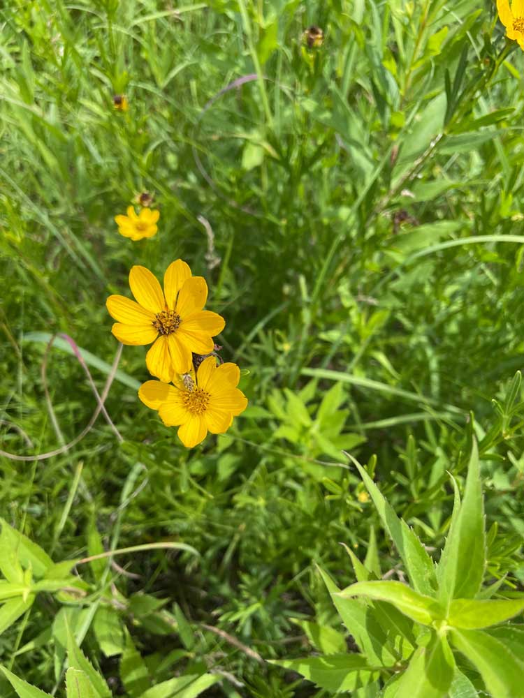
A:
{"label": "long narrow serrated leaf slanting up-left atop the lower-right plant", "polygon": [[377,507],[384,528],[398,549],[409,581],[411,581],[415,591],[427,596],[434,595],[435,569],[430,556],[416,537],[414,531],[407,526],[405,521],[398,518],[391,505],[384,499],[379,488],[374,484],[361,464],[357,461],[354,461],[354,463],[358,468],[358,472],[361,473],[375,507]]}

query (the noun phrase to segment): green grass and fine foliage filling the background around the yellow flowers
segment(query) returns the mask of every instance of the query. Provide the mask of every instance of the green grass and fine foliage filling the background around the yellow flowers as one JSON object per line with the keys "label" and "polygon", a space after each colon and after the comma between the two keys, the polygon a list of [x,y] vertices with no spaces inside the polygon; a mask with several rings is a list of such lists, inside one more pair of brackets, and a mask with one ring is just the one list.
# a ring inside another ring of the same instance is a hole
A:
{"label": "green grass and fine foliage filling the background around the yellow flowers", "polygon": [[[350,584],[340,543],[363,560],[379,530],[342,450],[377,455],[381,491],[439,548],[470,413],[499,531],[488,570],[522,590],[524,410],[504,396],[524,360],[524,63],[494,3],[8,0],[0,22],[0,448],[45,454],[89,423],[85,371],[46,345],[70,336],[102,392],[105,299],[129,295],[133,264],[205,276],[249,399],[185,450],[138,401],[145,350],[124,347],[105,402],[122,442],[100,415],[57,456],[1,459],[2,517],[56,561],[157,542],[199,556],[86,566],[85,599],[39,596],[0,663],[65,695],[67,616],[123,695],[92,618],[112,599],[117,644],[125,626],[155,682],[207,667],[210,697],[328,695],[245,646],[295,658],[315,651],[297,621],[338,627],[315,565]],[[113,216],[144,190],[159,233],[131,242]],[[152,597],[169,617],[139,608]]]}

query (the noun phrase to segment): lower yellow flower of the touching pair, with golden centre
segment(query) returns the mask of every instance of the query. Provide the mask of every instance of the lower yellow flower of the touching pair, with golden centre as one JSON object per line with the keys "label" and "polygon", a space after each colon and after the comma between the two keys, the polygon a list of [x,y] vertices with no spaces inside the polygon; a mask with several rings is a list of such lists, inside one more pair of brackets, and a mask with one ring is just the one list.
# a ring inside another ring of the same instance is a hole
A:
{"label": "lower yellow flower of the touching pair, with golden centre", "polygon": [[138,397],[147,407],[158,410],[166,426],[178,426],[178,438],[187,448],[201,443],[208,431],[221,434],[229,429],[233,417],[247,407],[246,396],[237,388],[240,369],[236,364],[221,364],[210,356],[195,374],[181,376],[175,385],[148,380],[140,386]]}

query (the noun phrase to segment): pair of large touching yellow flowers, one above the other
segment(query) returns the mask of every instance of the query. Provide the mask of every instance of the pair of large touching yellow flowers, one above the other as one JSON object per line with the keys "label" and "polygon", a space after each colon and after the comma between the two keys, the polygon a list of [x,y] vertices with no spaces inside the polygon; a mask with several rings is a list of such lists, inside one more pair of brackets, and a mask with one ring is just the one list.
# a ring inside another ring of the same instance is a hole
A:
{"label": "pair of large touching yellow flowers, one above the other", "polygon": [[[131,237],[131,236],[128,236]],[[166,269],[163,288],[145,267],[132,267],[129,286],[135,300],[108,297],[112,334],[123,344],[149,345],[145,363],[159,380],[148,380],[138,391],[145,405],[157,410],[166,426],[178,426],[188,448],[201,443],[208,431],[224,433],[247,407],[237,385],[236,364],[217,366],[213,337],[226,325],[217,313],[204,310],[208,285],[192,276],[186,262]]]}

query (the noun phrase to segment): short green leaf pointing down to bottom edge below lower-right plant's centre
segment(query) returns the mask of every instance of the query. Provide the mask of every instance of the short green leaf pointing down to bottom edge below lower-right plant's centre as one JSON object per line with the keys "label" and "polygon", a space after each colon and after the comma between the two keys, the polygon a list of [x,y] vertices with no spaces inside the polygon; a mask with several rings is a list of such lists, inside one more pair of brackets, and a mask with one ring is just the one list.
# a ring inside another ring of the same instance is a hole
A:
{"label": "short green leaf pointing down to bottom edge below lower-right plant's centre", "polygon": [[397,690],[393,695],[395,698],[444,698],[447,695],[447,688],[444,685],[451,684],[451,676],[438,677],[439,671],[447,671],[451,667],[446,665],[444,653],[439,642],[430,644],[428,647],[419,647],[414,653],[409,666],[402,678],[398,681]]}

